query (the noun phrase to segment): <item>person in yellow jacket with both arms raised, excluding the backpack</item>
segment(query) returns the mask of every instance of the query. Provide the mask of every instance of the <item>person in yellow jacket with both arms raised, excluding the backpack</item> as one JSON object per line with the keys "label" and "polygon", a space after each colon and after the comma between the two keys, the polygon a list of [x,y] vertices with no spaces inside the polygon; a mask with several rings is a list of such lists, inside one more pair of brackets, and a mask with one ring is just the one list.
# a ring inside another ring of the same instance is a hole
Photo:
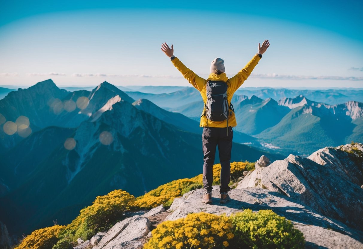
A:
{"label": "person in yellow jacket with both arms raised, excluding the backpack", "polygon": [[[227,77],[225,74],[224,61],[221,58],[215,58],[211,62],[210,74],[208,79],[199,77],[192,70],[187,68],[179,59],[174,55],[174,48],[171,48],[166,42],[162,44],[161,50],[170,57],[172,64],[183,74],[184,78],[191,83],[201,94],[204,101],[203,113],[200,117],[200,127],[203,127],[202,142],[204,153],[203,164],[203,185],[206,190],[203,194],[202,202],[212,203],[212,183],[213,183],[213,164],[215,159],[216,147],[218,146],[219,158],[221,163],[221,185],[220,185],[220,203],[226,203],[230,200],[228,191],[231,188],[228,186],[231,180],[231,150],[232,150],[232,127],[237,125],[234,111],[229,112],[228,119],[224,121],[211,121],[207,119],[206,103],[207,103],[207,82],[208,81],[223,81],[227,84],[227,100],[228,106],[231,104],[231,100],[234,92],[242,85],[242,83],[251,74],[254,67],[261,60],[262,54],[266,52],[266,49],[270,46],[269,40],[265,40],[262,43],[258,43],[258,52],[252,57],[252,59],[246,64],[244,68],[240,70],[232,78]],[[227,123],[228,121],[228,123]],[[227,126],[228,124],[228,126]],[[227,127],[227,129],[226,129]],[[227,130],[227,132],[226,132]]]}

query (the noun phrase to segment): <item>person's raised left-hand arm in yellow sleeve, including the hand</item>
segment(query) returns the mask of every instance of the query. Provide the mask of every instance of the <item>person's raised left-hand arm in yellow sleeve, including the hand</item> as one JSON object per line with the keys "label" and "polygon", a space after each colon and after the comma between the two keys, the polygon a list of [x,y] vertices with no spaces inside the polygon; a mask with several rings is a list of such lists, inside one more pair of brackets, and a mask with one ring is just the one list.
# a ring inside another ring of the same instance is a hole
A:
{"label": "person's raised left-hand arm in yellow sleeve, including the hand", "polygon": [[[173,45],[171,45],[171,48],[168,46],[168,44],[163,43],[161,50],[170,58],[174,55],[174,48]],[[205,79],[199,77],[196,73],[194,73],[192,70],[187,68],[181,61],[175,57],[171,61],[174,66],[180,71],[181,74],[183,74],[183,77],[189,81],[189,83],[192,84],[198,91],[201,91],[203,89],[203,86],[206,82]]]}

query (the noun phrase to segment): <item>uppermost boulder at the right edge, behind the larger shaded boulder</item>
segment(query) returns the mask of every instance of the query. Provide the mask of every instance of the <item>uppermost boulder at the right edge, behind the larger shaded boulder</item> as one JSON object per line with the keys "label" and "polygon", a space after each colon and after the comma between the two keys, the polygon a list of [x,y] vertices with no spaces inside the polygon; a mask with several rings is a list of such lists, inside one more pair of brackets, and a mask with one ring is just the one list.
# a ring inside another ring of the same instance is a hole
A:
{"label": "uppermost boulder at the right edge, behind the larger shaded boulder", "polygon": [[346,144],[345,146],[341,146],[338,148],[340,149],[325,147],[318,151],[315,151],[307,158],[325,167],[329,167],[348,181],[352,181],[359,186],[362,185],[363,165],[362,163],[359,164],[357,160],[354,160],[357,155],[354,154],[354,152],[356,153],[356,151],[352,149],[362,147]]}

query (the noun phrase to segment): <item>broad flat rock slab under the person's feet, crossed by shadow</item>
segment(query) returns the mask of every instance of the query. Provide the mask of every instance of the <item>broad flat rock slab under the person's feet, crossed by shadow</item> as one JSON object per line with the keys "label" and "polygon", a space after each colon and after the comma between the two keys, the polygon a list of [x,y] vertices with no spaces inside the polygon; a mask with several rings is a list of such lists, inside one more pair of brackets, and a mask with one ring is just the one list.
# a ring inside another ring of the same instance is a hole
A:
{"label": "broad flat rock slab under the person's feet, crossed by shadow", "polygon": [[[269,166],[270,167],[270,166]],[[218,190],[219,186],[213,186]],[[219,203],[219,191],[212,191],[212,204],[201,202],[204,189],[185,193],[174,199],[167,220],[176,220],[188,213],[206,212],[227,216],[243,209],[271,209],[290,220],[305,237],[306,248],[363,248],[363,233],[348,227],[340,221],[319,214],[308,205],[280,193],[262,188],[231,189],[230,201]]]}

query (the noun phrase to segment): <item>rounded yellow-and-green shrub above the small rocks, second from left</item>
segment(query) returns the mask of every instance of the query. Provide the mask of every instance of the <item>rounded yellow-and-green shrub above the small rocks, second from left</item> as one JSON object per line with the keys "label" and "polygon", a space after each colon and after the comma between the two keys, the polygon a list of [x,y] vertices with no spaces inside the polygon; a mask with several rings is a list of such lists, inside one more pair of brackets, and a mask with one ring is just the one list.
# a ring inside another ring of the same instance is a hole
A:
{"label": "rounded yellow-and-green shrub above the small rocks, second from left", "polygon": [[80,211],[67,229],[77,230],[76,237],[88,239],[95,231],[106,228],[113,221],[120,219],[123,212],[134,207],[134,201],[133,195],[121,189],[97,196],[92,205]]}

